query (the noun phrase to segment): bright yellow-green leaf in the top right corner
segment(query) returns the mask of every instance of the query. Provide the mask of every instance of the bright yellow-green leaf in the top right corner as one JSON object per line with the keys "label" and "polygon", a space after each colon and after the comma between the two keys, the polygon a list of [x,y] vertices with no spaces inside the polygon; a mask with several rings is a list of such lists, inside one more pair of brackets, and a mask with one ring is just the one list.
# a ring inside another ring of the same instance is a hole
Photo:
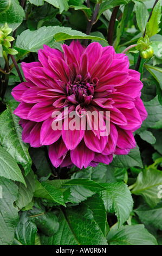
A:
{"label": "bright yellow-green leaf in the top right corner", "polygon": [[159,23],[161,19],[161,0],[153,8],[150,20],[146,24],[146,35],[150,38],[160,31]]}

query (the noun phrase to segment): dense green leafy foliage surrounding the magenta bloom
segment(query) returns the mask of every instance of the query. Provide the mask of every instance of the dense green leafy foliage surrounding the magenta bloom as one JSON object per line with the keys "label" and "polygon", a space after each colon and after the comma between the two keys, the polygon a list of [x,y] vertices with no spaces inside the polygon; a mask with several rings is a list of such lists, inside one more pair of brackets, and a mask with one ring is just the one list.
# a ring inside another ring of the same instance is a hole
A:
{"label": "dense green leafy foliage surrounding the magenta bloom", "polygon": [[[96,5],[99,10],[88,35]],[[109,166],[84,170],[54,169],[44,147],[22,142],[19,118],[12,114],[17,102],[11,96],[21,80],[13,56],[8,58],[7,74],[0,72],[1,86],[4,77],[8,81],[0,99],[0,245],[162,245],[160,0],[148,21],[153,5],[153,0],[92,0],[90,5],[83,0],[0,0],[0,26],[7,22],[12,28],[12,49],[17,52],[10,54],[17,53],[20,70],[22,60],[37,61],[43,44],[61,50],[63,42],[88,39],[102,46],[113,42],[121,53],[137,44],[145,28],[154,51],[152,58],[140,62],[137,49],[126,52],[131,69],[140,64],[141,99],[148,113],[134,134],[137,148],[115,156]],[[5,70],[5,58],[0,62]],[[21,75],[24,79],[22,70]]]}

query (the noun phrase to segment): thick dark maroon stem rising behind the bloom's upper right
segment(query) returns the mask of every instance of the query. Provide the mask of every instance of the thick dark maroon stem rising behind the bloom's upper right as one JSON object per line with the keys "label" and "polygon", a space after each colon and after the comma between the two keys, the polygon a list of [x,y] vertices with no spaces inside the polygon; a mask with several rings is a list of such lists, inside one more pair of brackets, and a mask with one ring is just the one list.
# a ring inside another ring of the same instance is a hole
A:
{"label": "thick dark maroon stem rising behind the bloom's upper right", "polygon": [[117,14],[118,14],[119,7],[120,7],[120,5],[116,6],[113,9],[111,19],[109,21],[108,34],[107,34],[107,42],[109,45],[113,45],[115,20],[116,20]]}

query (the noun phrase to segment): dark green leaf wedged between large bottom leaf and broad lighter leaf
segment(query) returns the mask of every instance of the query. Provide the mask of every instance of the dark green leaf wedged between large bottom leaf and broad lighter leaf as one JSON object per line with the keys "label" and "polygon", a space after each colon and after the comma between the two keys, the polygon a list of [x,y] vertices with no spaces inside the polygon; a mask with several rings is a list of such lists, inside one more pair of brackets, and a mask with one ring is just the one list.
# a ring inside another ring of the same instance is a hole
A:
{"label": "dark green leaf wedged between large bottom leaf and broad lighter leaf", "polygon": [[102,198],[99,196],[99,194],[94,194],[92,197],[89,197],[83,203],[86,204],[88,206],[88,209],[92,211],[94,221],[99,226],[100,230],[105,236],[107,216],[106,216],[105,205],[103,203]]}

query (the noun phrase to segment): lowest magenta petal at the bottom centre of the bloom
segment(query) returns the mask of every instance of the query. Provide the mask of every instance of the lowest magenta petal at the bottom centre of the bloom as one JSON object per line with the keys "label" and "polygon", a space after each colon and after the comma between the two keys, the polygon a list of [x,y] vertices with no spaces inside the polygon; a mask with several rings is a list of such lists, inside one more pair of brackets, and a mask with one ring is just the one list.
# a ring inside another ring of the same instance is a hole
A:
{"label": "lowest magenta petal at the bottom centre of the bloom", "polygon": [[94,152],[88,149],[82,140],[79,145],[70,152],[72,162],[80,169],[87,168],[88,164],[94,159]]}

